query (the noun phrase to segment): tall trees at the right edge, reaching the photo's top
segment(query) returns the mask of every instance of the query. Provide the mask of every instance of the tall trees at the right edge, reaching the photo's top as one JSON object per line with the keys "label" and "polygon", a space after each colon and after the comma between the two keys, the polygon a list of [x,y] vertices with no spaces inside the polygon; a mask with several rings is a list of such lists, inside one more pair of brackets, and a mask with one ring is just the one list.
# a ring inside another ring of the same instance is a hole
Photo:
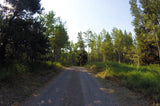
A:
{"label": "tall trees at the right edge, reaching the photo's top", "polygon": [[159,64],[160,0],[130,0],[141,64]]}

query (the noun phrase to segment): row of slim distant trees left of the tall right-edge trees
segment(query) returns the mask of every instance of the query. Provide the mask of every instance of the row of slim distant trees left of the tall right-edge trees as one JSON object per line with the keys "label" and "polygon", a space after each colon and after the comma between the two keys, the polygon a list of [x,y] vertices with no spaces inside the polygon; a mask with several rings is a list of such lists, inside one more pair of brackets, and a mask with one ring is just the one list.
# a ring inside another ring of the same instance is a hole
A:
{"label": "row of slim distant trees left of the tall right-edge trees", "polygon": [[[82,37],[86,37],[82,40]],[[88,62],[118,61],[134,63],[134,42],[131,33],[113,28],[111,34],[105,29],[100,34],[87,30],[78,33],[78,43],[80,50],[85,50],[84,44],[87,43]],[[77,48],[78,49],[78,48]]]}

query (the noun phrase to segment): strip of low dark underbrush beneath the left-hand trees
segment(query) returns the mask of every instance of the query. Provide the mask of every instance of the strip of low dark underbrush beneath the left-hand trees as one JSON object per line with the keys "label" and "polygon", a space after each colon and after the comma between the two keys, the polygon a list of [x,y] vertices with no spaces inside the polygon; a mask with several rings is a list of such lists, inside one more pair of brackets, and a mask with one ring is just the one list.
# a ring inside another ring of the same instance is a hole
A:
{"label": "strip of low dark underbrush beneath the left-hand trees", "polygon": [[31,76],[40,73],[47,73],[50,71],[56,72],[58,68],[63,66],[58,62],[37,62],[37,63],[14,63],[7,66],[3,66],[0,69],[0,82],[7,82],[13,80],[18,76]]}

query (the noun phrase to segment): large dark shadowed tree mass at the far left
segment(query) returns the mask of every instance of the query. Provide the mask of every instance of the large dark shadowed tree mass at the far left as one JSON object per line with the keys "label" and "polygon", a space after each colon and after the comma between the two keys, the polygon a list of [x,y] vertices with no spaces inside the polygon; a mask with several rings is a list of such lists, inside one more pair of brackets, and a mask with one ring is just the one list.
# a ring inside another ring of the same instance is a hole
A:
{"label": "large dark shadowed tree mass at the far left", "polygon": [[6,7],[9,13],[1,6],[1,10],[4,10],[0,23],[1,64],[40,61],[47,52],[48,39],[43,35],[41,24],[33,17],[41,11],[39,2],[8,0],[7,3],[13,6]]}

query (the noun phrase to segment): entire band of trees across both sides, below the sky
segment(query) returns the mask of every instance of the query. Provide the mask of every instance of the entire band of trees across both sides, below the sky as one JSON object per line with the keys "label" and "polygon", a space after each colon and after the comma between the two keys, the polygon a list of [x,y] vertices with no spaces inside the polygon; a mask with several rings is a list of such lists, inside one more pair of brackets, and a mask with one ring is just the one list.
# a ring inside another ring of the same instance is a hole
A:
{"label": "entire band of trees across both sides, below the sky", "polygon": [[1,5],[1,66],[40,61],[73,64],[78,62],[80,51],[87,51],[83,53],[87,54],[84,58],[88,57],[88,62],[159,64],[159,1],[129,3],[136,35],[119,28],[113,28],[112,32],[103,29],[99,34],[89,29],[79,32],[78,42],[73,43],[69,41],[65,23],[53,11],[45,13],[39,0],[8,0]]}

